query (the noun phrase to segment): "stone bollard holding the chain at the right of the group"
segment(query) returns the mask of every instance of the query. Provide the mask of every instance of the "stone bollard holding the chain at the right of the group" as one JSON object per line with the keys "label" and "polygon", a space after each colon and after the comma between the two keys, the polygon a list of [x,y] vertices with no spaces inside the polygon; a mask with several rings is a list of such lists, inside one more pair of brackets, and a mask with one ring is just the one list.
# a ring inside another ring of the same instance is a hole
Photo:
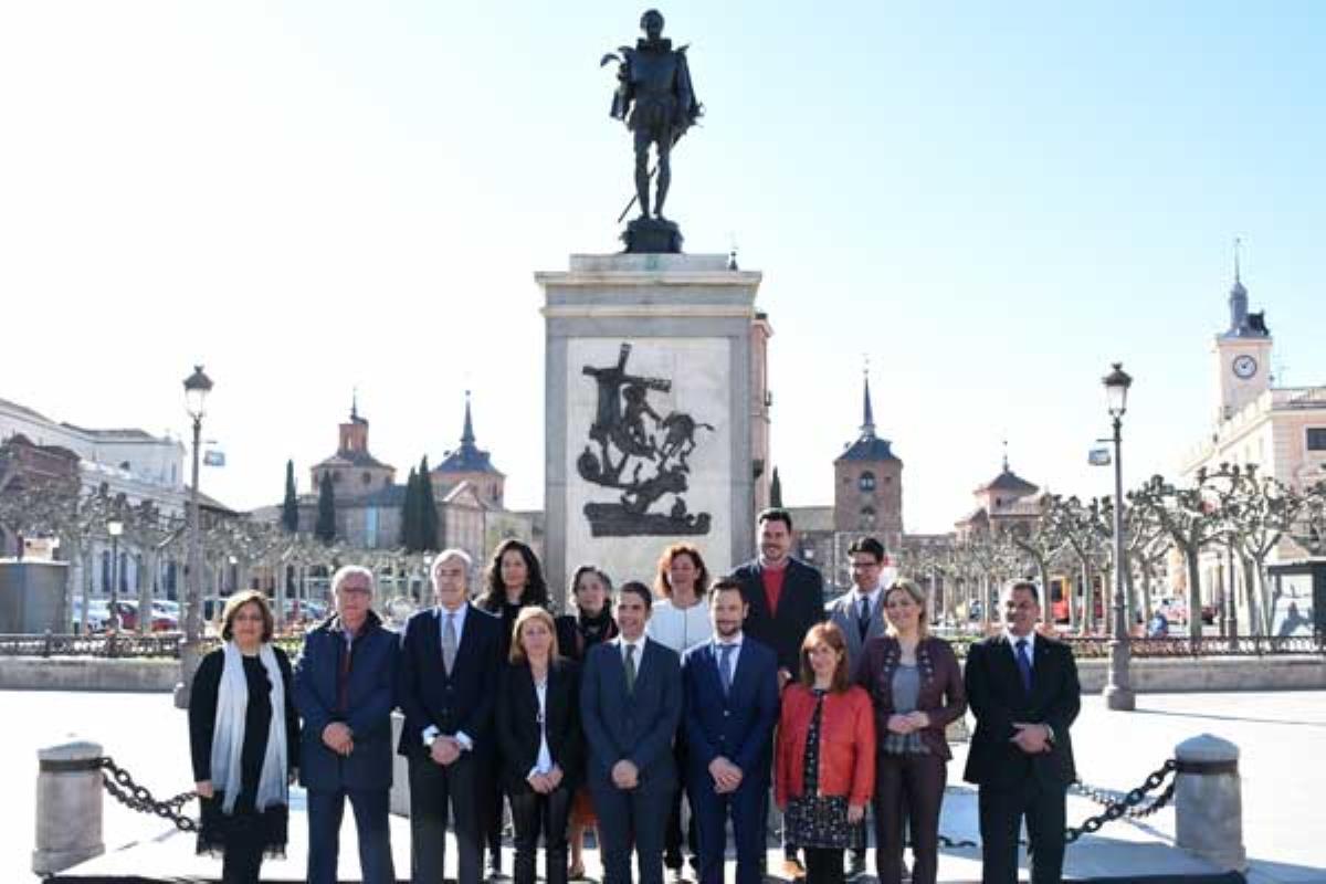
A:
{"label": "stone bollard holding the chain at the right of the group", "polygon": [[1201,734],[1174,750],[1174,819],[1179,847],[1216,865],[1242,872],[1248,854],[1242,843],[1242,786],[1238,746]]}

